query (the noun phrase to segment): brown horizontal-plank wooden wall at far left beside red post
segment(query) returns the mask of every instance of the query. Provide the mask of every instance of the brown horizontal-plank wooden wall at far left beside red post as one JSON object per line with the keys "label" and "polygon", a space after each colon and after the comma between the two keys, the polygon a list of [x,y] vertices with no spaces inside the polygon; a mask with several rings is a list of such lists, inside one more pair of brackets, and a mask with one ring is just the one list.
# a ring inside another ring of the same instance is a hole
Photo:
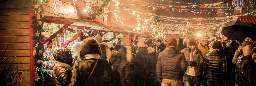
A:
{"label": "brown horizontal-plank wooden wall at far left beside red post", "polygon": [[16,56],[12,66],[21,62],[19,70],[25,72],[21,75],[23,83],[17,79],[17,86],[30,85],[29,2],[27,0],[1,1],[0,5],[0,55],[2,56],[8,43],[4,57],[13,53],[3,66],[9,65]]}

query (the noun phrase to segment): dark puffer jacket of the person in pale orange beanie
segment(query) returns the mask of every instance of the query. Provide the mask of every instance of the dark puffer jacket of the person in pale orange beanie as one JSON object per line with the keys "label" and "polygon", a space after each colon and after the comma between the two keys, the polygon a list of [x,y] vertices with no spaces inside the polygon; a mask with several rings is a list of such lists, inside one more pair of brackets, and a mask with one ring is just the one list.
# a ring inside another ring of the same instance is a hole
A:
{"label": "dark puffer jacket of the person in pale orange beanie", "polygon": [[146,77],[148,74],[148,69],[146,66],[148,59],[148,49],[143,47],[138,49],[136,56],[134,58],[134,68],[133,76],[136,77]]}

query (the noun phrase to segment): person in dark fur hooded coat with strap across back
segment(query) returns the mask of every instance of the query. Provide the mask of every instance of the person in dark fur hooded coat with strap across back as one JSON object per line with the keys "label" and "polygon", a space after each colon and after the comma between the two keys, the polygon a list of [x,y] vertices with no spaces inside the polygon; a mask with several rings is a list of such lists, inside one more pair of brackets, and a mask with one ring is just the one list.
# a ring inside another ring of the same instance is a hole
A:
{"label": "person in dark fur hooded coat with strap across back", "polygon": [[114,84],[111,66],[106,59],[101,59],[100,45],[96,40],[85,39],[79,47],[78,55],[70,86],[112,86]]}

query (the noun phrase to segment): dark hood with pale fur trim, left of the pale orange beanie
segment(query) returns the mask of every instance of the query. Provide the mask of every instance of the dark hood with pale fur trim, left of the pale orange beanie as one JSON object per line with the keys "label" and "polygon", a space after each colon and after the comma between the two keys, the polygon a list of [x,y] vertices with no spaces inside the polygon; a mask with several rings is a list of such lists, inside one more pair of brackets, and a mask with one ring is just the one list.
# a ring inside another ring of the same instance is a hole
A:
{"label": "dark hood with pale fur trim, left of the pale orange beanie", "polygon": [[119,59],[125,59],[129,63],[132,63],[132,50],[129,46],[121,47],[118,52]]}

